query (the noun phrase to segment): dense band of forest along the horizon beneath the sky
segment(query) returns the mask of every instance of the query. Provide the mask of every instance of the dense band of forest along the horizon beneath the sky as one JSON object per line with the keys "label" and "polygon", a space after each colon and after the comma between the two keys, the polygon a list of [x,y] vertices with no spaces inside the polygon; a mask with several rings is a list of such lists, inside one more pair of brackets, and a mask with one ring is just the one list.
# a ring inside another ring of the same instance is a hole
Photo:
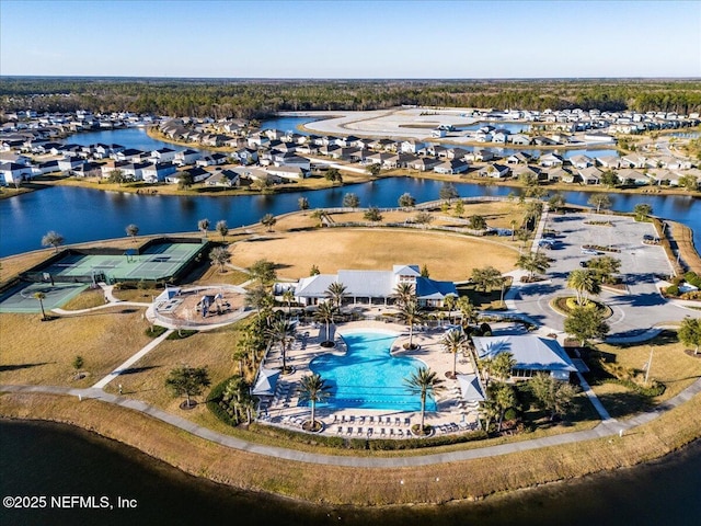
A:
{"label": "dense band of forest along the horizon beneath the sky", "polygon": [[401,105],[543,111],[701,112],[691,80],[238,80],[0,79],[4,112],[134,112],[265,118],[280,111],[367,111]]}

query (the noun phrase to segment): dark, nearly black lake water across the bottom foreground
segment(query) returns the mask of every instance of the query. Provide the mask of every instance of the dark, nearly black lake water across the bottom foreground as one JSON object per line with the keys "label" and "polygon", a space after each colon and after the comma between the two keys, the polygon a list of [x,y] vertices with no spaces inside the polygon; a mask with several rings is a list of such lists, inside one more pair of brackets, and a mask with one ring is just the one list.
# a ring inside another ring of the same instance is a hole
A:
{"label": "dark, nearly black lake water across the bottom foreground", "polygon": [[[0,421],[2,496],[93,495],[136,510],[7,510],[0,524],[686,526],[701,516],[701,443],[667,458],[506,498],[383,511],[311,505],[187,476],[130,447],[60,424]],[[466,473],[466,480],[469,473]]]}

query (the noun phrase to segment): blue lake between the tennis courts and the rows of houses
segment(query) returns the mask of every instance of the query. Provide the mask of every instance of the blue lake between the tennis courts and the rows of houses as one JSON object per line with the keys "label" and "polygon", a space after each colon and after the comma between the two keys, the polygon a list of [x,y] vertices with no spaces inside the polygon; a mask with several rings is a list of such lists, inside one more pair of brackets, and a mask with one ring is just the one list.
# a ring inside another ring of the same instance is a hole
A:
{"label": "blue lake between the tennis courts and the rows of houses", "polygon": [[[387,178],[374,182],[319,191],[289,192],[274,195],[172,196],[142,195],[99,190],[50,186],[0,201],[0,256],[41,249],[42,237],[49,230],[61,233],[66,243],[80,243],[125,236],[129,224],[139,233],[175,233],[197,230],[197,221],[214,225],[225,219],[229,227],[258,222],[265,214],[285,214],[298,209],[298,199],[307,197],[310,207],[342,206],[346,193],[355,193],[360,206],[394,207],[407,192],[417,202],[438,198],[443,183],[415,178]],[[460,196],[507,196],[520,188],[456,183]],[[568,203],[584,205],[588,192],[563,192]],[[693,229],[697,247],[701,247],[701,201],[691,196],[610,194],[612,208],[631,211],[639,203],[652,205],[655,215],[683,222]],[[9,228],[8,225],[12,225]]]}

